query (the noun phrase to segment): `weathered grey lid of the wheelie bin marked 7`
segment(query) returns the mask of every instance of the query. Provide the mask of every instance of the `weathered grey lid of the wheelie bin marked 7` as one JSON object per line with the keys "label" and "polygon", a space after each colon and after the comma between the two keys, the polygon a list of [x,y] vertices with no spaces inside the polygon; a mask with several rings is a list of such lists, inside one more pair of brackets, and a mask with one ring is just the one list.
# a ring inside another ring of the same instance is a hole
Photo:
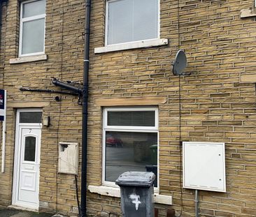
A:
{"label": "weathered grey lid of the wheelie bin marked 7", "polygon": [[115,184],[118,186],[150,187],[155,180],[153,172],[124,172],[120,174]]}

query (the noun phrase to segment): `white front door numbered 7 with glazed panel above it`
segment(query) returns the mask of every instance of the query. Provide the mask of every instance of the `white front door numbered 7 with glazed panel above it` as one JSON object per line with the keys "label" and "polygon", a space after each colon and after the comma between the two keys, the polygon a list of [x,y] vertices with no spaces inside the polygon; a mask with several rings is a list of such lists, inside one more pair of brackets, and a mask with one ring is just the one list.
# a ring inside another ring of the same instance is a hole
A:
{"label": "white front door numbered 7 with glazed panel above it", "polygon": [[13,204],[30,209],[39,205],[41,115],[41,110],[17,110]]}

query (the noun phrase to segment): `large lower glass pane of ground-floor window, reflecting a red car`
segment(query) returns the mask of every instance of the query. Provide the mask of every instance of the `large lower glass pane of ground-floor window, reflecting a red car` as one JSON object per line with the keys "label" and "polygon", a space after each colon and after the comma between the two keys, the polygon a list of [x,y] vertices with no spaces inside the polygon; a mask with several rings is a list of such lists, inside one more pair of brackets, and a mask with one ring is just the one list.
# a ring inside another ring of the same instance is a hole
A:
{"label": "large lower glass pane of ground-floor window, reflecting a red car", "polygon": [[127,171],[150,171],[157,176],[157,133],[107,131],[105,171],[106,181],[113,182]]}

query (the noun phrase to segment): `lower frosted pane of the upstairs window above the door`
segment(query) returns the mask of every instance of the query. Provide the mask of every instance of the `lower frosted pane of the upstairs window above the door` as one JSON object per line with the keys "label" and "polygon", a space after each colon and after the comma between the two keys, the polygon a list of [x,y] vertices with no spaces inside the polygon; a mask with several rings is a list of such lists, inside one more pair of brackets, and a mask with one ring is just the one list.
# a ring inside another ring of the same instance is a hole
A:
{"label": "lower frosted pane of the upstairs window above the door", "polygon": [[45,19],[23,23],[22,54],[43,52]]}

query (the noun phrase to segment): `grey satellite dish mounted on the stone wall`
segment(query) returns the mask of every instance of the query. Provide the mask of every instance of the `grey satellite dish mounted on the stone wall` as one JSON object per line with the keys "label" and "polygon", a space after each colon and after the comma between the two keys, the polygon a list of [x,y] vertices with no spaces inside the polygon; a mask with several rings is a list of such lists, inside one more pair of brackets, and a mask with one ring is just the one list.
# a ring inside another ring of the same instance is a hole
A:
{"label": "grey satellite dish mounted on the stone wall", "polygon": [[190,75],[190,73],[183,73],[184,68],[187,67],[187,57],[183,50],[178,50],[173,65],[173,75]]}

